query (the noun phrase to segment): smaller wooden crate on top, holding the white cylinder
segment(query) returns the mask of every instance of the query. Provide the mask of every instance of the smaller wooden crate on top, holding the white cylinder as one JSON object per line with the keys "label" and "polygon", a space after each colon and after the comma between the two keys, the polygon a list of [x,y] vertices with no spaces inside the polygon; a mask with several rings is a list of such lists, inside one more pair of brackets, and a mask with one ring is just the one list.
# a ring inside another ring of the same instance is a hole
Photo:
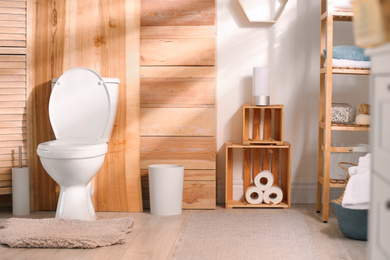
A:
{"label": "smaller wooden crate on top, holding the white cylinder", "polygon": [[283,105],[243,105],[242,143],[283,145]]}

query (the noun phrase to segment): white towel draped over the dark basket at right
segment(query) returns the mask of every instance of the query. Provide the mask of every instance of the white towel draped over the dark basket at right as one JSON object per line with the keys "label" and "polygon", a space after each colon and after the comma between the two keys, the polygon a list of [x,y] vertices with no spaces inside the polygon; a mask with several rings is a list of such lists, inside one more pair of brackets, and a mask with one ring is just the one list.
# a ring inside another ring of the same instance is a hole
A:
{"label": "white towel draped over the dark basket at right", "polygon": [[370,202],[371,154],[359,158],[358,166],[349,168],[349,181],[341,205],[349,209],[368,209]]}

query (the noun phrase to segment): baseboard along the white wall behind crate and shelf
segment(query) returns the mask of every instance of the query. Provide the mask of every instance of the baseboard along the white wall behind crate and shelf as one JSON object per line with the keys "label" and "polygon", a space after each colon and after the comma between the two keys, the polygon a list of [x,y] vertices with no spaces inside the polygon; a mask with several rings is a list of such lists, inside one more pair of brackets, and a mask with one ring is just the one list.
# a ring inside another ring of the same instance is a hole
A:
{"label": "baseboard along the white wall behind crate and shelf", "polygon": [[[330,200],[340,197],[343,189],[331,189]],[[243,181],[233,180],[233,199],[243,196]],[[293,182],[291,184],[291,203],[316,203],[317,182]],[[225,203],[225,181],[217,182],[217,203]]]}

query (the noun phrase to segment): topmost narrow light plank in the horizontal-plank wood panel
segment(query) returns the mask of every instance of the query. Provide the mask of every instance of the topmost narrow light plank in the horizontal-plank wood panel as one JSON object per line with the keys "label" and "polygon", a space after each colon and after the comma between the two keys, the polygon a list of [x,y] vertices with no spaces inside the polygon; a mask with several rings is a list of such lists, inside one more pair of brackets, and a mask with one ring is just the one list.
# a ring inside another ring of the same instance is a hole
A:
{"label": "topmost narrow light plank in the horizontal-plank wood panel", "polygon": [[141,39],[215,38],[215,26],[142,26]]}

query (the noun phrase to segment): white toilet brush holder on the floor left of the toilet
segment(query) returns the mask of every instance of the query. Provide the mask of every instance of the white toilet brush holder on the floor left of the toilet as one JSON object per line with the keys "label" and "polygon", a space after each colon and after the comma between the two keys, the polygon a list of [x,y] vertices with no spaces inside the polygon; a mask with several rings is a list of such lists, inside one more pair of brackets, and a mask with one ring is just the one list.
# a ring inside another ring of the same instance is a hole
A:
{"label": "white toilet brush holder on the floor left of the toilet", "polygon": [[30,188],[28,168],[12,168],[12,214],[30,214]]}

